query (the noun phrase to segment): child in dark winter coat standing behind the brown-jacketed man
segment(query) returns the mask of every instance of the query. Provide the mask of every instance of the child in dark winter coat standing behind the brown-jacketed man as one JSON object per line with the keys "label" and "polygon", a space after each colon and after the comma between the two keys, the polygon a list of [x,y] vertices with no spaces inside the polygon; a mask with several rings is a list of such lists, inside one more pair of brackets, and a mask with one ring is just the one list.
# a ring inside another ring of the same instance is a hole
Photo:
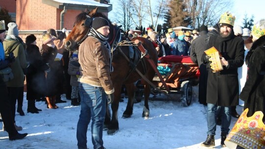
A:
{"label": "child in dark winter coat standing behind the brown-jacketed man", "polygon": [[71,93],[71,104],[74,106],[78,106],[80,103],[79,99],[79,82],[78,77],[80,75],[79,72],[80,64],[78,62],[78,50],[74,51],[68,66],[68,74],[71,75],[70,85],[72,86]]}

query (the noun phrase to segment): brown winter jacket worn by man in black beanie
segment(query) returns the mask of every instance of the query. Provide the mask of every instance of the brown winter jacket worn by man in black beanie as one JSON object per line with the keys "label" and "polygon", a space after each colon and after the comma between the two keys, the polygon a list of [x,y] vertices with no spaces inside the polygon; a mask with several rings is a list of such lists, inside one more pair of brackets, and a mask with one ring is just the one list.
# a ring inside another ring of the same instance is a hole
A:
{"label": "brown winter jacket worn by man in black beanie", "polygon": [[110,79],[109,53],[99,40],[87,37],[79,47],[79,82],[103,87],[106,94],[114,93]]}

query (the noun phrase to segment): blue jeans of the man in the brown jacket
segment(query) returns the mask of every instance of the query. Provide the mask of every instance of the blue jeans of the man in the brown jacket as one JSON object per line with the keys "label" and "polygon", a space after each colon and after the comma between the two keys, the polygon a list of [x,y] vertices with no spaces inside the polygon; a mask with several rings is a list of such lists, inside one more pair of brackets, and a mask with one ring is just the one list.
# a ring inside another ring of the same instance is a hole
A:
{"label": "blue jeans of the man in the brown jacket", "polygon": [[81,111],[77,125],[77,140],[79,149],[87,149],[86,132],[90,120],[91,136],[94,149],[103,147],[103,124],[106,114],[106,93],[102,87],[79,83]]}

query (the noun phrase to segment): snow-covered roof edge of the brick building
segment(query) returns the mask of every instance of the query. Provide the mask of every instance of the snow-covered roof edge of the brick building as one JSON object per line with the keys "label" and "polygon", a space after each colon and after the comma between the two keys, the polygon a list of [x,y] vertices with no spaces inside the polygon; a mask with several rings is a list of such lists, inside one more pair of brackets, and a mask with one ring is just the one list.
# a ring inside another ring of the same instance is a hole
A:
{"label": "snow-covered roof edge of the brick building", "polygon": [[101,6],[108,7],[109,4],[100,3],[95,0],[53,0],[60,3],[71,3],[71,4],[81,4],[81,5],[92,5],[92,6]]}

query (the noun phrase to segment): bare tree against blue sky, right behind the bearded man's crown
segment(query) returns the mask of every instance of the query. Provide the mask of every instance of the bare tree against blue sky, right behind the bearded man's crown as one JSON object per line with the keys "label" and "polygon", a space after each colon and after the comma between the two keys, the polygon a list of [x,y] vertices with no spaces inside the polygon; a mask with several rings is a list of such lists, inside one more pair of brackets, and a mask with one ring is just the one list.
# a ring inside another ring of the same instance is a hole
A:
{"label": "bare tree against blue sky, right behind the bearded man's crown", "polygon": [[185,0],[193,27],[214,25],[220,15],[231,9],[231,0]]}

